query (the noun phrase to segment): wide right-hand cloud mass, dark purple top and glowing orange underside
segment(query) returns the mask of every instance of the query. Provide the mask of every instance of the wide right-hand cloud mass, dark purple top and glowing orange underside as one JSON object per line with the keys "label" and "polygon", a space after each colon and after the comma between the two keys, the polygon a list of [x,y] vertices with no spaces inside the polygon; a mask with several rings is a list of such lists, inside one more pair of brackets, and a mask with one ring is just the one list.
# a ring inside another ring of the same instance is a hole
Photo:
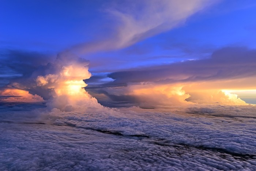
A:
{"label": "wide right-hand cloud mass, dark purple top and glowing orange underside", "polygon": [[[256,80],[255,56],[256,50],[225,47],[212,53],[208,59],[113,72],[108,76],[114,81],[97,87],[91,86],[90,91],[93,92],[93,88],[102,89],[108,92],[105,95],[110,99],[110,94],[129,95],[135,99],[140,96],[141,103],[150,102],[153,106],[172,104],[175,101],[187,103],[188,100],[195,103],[245,104],[235,94],[224,90],[253,89]],[[180,96],[175,100],[167,98],[175,87],[180,87],[180,91],[184,93],[181,95],[177,91]],[[158,96],[162,98],[157,98]]]}

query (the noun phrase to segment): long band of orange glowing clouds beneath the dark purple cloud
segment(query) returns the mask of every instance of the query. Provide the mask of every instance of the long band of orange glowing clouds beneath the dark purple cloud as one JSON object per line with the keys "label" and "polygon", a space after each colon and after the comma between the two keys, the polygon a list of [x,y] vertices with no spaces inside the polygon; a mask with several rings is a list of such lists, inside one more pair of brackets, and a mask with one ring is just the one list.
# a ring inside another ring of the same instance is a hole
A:
{"label": "long band of orange glowing clouds beneath the dark purple cloud", "polygon": [[173,106],[188,104],[248,105],[237,94],[219,88],[204,87],[203,83],[129,84],[127,87],[108,89],[110,94],[136,98],[140,106]]}

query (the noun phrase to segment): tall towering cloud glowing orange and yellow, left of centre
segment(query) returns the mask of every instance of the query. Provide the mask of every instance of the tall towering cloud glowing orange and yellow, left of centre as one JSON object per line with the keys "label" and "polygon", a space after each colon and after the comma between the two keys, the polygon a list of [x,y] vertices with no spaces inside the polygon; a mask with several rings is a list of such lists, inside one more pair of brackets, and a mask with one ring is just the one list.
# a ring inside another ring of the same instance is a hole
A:
{"label": "tall towering cloud glowing orange and yellow, left of centre", "polygon": [[36,79],[37,86],[49,90],[52,96],[47,106],[62,111],[86,111],[88,107],[101,108],[97,100],[84,90],[87,84],[83,79],[91,77],[88,62],[79,61],[80,58],[75,57],[68,59],[70,60],[60,56],[55,63],[56,73],[38,76]]}

